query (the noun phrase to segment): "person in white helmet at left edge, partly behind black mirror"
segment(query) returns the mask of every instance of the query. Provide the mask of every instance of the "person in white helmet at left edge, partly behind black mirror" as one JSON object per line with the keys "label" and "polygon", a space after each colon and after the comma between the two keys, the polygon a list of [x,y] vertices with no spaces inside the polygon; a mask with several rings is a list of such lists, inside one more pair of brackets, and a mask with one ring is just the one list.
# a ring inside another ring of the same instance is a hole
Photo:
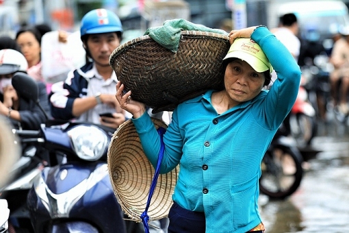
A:
{"label": "person in white helmet at left edge, partly behind black mirror", "polygon": [[[12,86],[14,73],[27,73],[27,67],[27,60],[19,51],[0,50],[0,114],[8,116],[15,128],[39,130],[40,124],[46,121],[44,112],[34,101],[18,96]],[[38,82],[38,87],[40,105],[49,113],[46,86]]]}

